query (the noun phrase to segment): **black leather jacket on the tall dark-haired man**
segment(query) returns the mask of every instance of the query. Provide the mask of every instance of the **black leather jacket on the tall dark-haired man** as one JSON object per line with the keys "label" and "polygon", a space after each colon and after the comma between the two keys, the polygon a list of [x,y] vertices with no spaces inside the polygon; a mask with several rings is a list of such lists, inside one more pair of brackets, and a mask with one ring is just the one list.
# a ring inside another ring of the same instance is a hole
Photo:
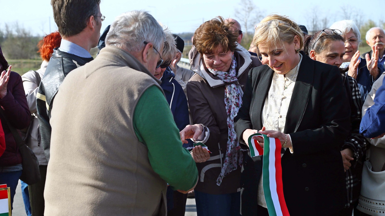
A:
{"label": "black leather jacket on the tall dark-haired man", "polygon": [[49,150],[51,141],[51,125],[49,120],[51,118],[52,104],[55,95],[59,90],[65,76],[77,67],[85,65],[94,58],[82,58],[77,55],[59,51],[54,49],[52,57],[45,70],[43,80],[40,82],[37,91],[37,114],[39,118],[40,144],[43,147],[45,158],[49,161]]}

